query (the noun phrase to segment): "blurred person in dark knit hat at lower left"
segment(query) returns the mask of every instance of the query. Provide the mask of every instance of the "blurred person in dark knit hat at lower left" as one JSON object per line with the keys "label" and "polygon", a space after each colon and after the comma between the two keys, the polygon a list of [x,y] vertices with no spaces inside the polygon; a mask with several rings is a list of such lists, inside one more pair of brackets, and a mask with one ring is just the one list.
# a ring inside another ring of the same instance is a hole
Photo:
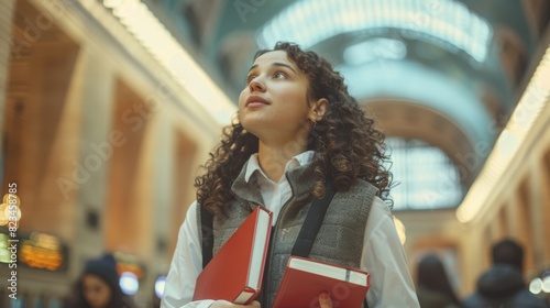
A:
{"label": "blurred person in dark knit hat at lower left", "polygon": [[86,262],[75,283],[66,308],[134,308],[133,300],[122,293],[117,262],[111,254]]}

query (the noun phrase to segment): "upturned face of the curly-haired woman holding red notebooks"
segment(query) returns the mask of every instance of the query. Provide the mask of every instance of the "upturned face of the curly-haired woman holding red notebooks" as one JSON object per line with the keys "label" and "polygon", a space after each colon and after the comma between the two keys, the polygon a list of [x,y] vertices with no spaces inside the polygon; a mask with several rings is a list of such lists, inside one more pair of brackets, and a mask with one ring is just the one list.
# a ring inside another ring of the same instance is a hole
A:
{"label": "upturned face of the curly-haired woman holding red notebooks", "polygon": [[310,125],[309,80],[288,59],[273,51],[256,58],[239,97],[239,119],[262,142],[296,140]]}

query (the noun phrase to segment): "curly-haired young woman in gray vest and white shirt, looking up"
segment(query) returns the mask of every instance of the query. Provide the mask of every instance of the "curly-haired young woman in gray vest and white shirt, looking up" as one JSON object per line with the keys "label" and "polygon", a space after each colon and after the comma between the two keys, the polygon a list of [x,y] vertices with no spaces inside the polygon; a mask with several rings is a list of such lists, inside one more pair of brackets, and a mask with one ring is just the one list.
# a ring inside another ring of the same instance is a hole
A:
{"label": "curly-haired young woman in gray vest and white shirt, looking up", "polygon": [[[256,207],[273,211],[274,226],[261,295],[271,307],[290,249],[312,200],[337,191],[310,257],[371,274],[369,307],[419,307],[387,196],[384,135],[348,94],[343,78],[316,53],[292,43],[261,51],[239,98],[239,118],[224,130],[197,201],[183,223],[162,307],[243,307],[191,301],[201,264],[200,207],[213,215],[213,251]],[[319,295],[321,307],[332,307]],[[260,307],[260,302],[248,307]]]}

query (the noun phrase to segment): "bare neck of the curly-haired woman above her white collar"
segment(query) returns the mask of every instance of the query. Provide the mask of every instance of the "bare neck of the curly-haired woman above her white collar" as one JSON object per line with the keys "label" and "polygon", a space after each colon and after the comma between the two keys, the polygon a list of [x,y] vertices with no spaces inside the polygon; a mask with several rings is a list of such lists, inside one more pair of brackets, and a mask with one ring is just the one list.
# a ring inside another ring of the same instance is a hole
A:
{"label": "bare neck of the curly-haired woman above her white collar", "polygon": [[257,161],[265,175],[278,183],[285,174],[286,164],[296,155],[306,151],[305,146],[296,143],[294,146],[268,146],[260,142]]}

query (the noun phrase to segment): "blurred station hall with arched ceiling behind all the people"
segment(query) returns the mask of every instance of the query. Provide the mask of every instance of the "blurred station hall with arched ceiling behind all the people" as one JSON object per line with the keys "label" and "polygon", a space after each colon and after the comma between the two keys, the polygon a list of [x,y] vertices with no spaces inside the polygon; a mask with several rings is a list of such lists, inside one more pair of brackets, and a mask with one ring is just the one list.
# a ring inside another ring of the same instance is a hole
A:
{"label": "blurred station hall with arched ceiling behind all the people", "polygon": [[103,253],[158,307],[195,178],[279,41],[384,132],[414,279],[437,254],[466,297],[512,238],[550,305],[550,1],[2,0],[0,307],[63,307]]}

